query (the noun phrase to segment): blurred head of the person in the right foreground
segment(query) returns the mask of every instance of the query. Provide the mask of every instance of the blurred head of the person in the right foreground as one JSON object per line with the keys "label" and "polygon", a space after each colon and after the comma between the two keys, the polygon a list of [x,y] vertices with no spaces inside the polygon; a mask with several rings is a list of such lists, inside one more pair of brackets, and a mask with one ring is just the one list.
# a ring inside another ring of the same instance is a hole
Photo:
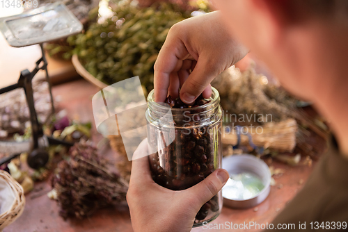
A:
{"label": "blurred head of the person in the right foreground", "polygon": [[215,3],[233,35],[266,63],[287,90],[313,101],[324,88],[325,92],[336,88],[338,80],[331,78],[339,75],[326,76],[323,70],[333,59],[347,60],[347,0]]}

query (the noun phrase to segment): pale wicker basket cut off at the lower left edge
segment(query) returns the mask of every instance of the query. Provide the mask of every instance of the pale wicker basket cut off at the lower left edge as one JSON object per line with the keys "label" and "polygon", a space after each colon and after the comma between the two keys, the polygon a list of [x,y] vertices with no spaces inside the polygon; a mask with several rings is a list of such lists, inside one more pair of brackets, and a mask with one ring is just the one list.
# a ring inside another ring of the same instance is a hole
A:
{"label": "pale wicker basket cut off at the lower left edge", "polygon": [[24,190],[8,172],[0,170],[0,231],[22,215]]}

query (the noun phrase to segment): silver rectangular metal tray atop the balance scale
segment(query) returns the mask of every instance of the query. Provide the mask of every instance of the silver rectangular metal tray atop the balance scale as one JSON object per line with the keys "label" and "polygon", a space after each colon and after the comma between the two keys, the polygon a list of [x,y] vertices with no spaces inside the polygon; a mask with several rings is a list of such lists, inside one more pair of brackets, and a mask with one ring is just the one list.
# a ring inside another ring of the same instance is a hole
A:
{"label": "silver rectangular metal tray atop the balance scale", "polygon": [[58,40],[79,33],[82,28],[79,19],[60,2],[0,18],[0,31],[13,47]]}

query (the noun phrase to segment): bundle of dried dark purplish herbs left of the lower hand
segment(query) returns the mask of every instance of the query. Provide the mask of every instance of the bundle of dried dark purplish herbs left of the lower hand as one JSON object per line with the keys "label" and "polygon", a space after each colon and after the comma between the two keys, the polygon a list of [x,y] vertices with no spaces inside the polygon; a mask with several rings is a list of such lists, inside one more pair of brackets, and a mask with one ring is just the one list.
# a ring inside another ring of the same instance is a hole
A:
{"label": "bundle of dried dark purplish herbs left of the lower hand", "polygon": [[70,159],[58,163],[52,179],[63,218],[83,218],[105,206],[125,202],[128,184],[111,172],[97,149],[79,142],[69,151]]}

